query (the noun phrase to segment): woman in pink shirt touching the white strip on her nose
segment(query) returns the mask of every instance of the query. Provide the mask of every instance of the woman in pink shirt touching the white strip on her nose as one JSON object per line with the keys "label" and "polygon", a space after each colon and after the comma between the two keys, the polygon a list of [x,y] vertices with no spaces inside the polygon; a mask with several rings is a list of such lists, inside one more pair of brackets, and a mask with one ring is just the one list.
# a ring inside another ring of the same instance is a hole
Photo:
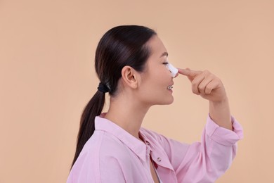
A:
{"label": "woman in pink shirt touching the white strip on her nose", "polygon": [[[178,69],[193,93],[209,100],[202,141],[191,145],[141,127],[153,105],[174,101],[167,49],[148,27],[107,31],[96,49],[100,84],[81,116],[77,149],[67,182],[214,182],[225,172],[242,138],[230,115],[221,80],[209,71]],[[110,108],[102,113],[105,93]]]}

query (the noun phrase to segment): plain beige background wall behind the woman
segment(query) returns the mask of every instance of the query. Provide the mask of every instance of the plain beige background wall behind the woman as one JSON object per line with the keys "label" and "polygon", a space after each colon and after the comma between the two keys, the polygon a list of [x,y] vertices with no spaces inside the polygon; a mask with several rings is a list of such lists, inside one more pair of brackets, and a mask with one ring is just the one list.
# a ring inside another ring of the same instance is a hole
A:
{"label": "plain beige background wall behind the woman", "polygon": [[[0,1],[0,182],[65,182],[79,117],[96,92],[93,58],[111,27],[157,30],[180,68],[221,77],[244,139],[224,182],[272,182],[273,1]],[[174,80],[174,103],[143,123],[192,143],[208,102]],[[107,108],[105,108],[105,111]]]}

